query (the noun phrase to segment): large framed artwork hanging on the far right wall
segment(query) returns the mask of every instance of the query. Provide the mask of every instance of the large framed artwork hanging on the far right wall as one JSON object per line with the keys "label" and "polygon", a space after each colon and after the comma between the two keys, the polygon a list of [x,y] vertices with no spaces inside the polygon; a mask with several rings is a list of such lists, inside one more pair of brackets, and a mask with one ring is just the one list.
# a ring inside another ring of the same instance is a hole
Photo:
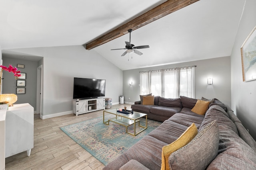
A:
{"label": "large framed artwork hanging on the far right wall", "polygon": [[241,47],[243,81],[256,80],[256,26]]}

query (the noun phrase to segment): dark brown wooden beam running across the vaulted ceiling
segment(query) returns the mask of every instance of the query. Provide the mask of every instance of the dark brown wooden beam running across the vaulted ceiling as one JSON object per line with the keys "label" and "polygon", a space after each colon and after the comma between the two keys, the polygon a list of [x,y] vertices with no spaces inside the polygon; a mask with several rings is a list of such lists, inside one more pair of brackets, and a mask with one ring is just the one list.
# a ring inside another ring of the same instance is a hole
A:
{"label": "dark brown wooden beam running across the vaulted ceiling", "polygon": [[132,30],[138,29],[144,25],[147,25],[148,23],[158,20],[159,18],[162,18],[168,14],[171,14],[172,12],[175,12],[181,8],[184,8],[185,6],[188,6],[196,1],[198,0],[167,0],[166,2],[160,4],[159,6],[156,6],[152,10],[149,10],[148,12],[142,14],[141,16],[138,16],[134,20],[131,20],[125,23],[124,25],[95,39],[94,41],[87,43],[86,49],[88,50],[93,49],[113,39],[121,37],[122,35],[125,35],[126,33],[128,33],[128,29],[132,29]]}

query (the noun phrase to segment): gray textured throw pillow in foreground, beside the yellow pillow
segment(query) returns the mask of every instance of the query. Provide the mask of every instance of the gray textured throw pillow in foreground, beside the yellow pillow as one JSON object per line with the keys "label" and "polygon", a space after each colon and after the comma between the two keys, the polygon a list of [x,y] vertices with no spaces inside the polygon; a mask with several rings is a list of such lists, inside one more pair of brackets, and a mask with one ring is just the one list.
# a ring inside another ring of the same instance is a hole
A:
{"label": "gray textured throw pillow in foreground, beside the yellow pillow", "polygon": [[170,169],[206,169],[218,154],[218,144],[218,125],[212,121],[190,143],[170,155]]}

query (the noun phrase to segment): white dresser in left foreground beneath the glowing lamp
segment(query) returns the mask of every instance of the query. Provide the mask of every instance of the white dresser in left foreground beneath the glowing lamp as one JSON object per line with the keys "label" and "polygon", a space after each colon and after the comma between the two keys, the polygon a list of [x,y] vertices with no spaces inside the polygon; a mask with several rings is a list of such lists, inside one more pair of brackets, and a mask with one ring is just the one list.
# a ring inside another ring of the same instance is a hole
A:
{"label": "white dresser in left foreground beneath the glowing lamp", "polygon": [[34,107],[30,104],[14,104],[6,111],[5,157],[34,148]]}

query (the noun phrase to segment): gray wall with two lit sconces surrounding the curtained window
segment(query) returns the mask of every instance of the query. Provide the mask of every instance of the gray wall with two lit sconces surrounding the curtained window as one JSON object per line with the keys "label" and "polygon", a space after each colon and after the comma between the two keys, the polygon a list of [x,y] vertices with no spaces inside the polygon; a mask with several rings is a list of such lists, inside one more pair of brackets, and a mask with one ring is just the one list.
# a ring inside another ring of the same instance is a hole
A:
{"label": "gray wall with two lit sconces surrounding the curtained window", "polygon": [[[140,100],[140,71],[193,65],[196,65],[195,98],[201,99],[202,96],[208,99],[217,98],[223,103],[231,106],[230,57],[220,57],[215,59],[206,59],[186,63],[125,70],[123,71],[124,101],[129,102],[128,98],[130,98],[130,102]],[[213,78],[212,85],[207,84],[208,77]],[[129,80],[132,80],[131,86],[129,85]]]}

